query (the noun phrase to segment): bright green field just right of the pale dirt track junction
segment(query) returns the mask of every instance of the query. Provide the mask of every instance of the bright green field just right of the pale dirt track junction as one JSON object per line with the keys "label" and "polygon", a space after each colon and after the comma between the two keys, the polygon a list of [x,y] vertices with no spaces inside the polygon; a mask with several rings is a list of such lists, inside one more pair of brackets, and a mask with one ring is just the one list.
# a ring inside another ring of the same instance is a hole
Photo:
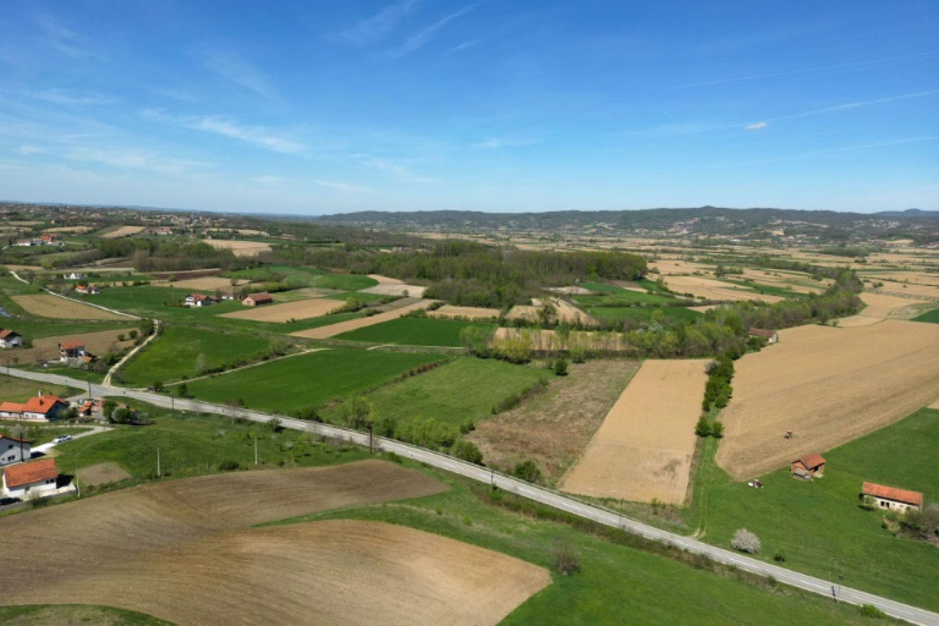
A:
{"label": "bright green field just right of the pale dirt track junction", "polygon": [[202,374],[197,370],[200,360],[204,370],[231,367],[238,359],[251,359],[267,350],[269,344],[257,335],[172,326],[131,360],[121,379],[131,387],[146,387],[157,380],[192,378]]}

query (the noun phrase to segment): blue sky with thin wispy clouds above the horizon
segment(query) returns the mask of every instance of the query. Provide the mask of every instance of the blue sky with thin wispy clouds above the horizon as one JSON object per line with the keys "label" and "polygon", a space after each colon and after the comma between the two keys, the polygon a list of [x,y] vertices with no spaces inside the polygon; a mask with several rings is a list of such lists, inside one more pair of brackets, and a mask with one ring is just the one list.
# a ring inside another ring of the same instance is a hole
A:
{"label": "blue sky with thin wispy clouds above the horizon", "polygon": [[939,4],[6,2],[0,198],[937,209]]}

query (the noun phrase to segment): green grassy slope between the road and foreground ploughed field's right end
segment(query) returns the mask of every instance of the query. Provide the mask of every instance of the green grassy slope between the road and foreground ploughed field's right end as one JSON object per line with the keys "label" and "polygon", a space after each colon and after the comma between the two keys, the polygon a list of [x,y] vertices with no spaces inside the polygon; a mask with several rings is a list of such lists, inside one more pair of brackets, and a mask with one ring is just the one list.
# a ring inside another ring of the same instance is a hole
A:
{"label": "green grassy slope between the road and foreground ploughed field's right end", "polygon": [[[876,624],[857,609],[784,588],[758,588],[665,557],[604,541],[571,527],[504,511],[447,476],[451,491],[389,506],[314,514],[291,521],[352,518],[439,534],[549,567],[559,543],[581,572],[521,604],[501,624]],[[510,496],[511,497],[511,496]]]}

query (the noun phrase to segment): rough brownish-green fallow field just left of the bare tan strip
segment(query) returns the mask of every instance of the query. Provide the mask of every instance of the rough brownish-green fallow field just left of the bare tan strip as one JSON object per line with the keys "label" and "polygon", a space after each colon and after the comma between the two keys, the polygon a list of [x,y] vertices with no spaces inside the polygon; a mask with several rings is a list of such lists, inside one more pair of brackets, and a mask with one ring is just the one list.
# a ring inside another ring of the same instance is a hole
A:
{"label": "rough brownish-green fallow field just left of the bare tan strip", "polygon": [[531,458],[549,483],[559,480],[587,448],[626,384],[639,369],[627,359],[574,363],[568,375],[516,408],[476,423],[467,435],[486,464],[511,468]]}

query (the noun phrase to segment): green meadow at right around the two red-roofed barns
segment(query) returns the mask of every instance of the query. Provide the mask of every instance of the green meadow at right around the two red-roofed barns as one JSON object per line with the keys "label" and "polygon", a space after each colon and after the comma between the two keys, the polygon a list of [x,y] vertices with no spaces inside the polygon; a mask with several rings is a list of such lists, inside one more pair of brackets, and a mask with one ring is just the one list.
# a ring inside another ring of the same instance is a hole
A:
{"label": "green meadow at right around the two red-roofed barns", "polygon": [[939,500],[939,411],[922,409],[835,450],[824,452],[824,478],[796,481],[787,470],[762,477],[763,489],[734,482],[714,463],[706,440],[695,483],[692,524],[704,541],[728,547],[740,527],[762,540],[759,558],[781,554],[784,565],[903,603],[939,610],[939,557],[926,542],[895,538],[881,513],[863,511],[863,481],[922,491]]}

